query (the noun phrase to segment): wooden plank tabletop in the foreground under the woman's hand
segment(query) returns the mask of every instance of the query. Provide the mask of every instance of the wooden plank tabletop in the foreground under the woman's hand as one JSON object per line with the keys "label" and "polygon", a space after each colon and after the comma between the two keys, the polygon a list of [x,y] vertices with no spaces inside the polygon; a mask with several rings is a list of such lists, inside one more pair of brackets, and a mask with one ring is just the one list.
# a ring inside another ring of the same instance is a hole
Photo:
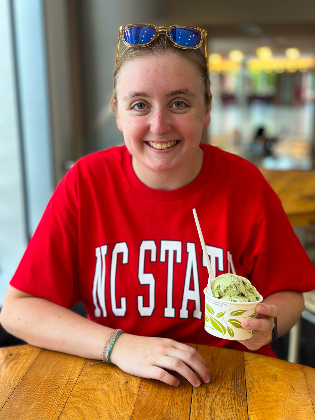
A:
{"label": "wooden plank tabletop in the foreground under the woman's hand", "polygon": [[[196,347],[195,345],[193,345]],[[315,420],[315,369],[197,346],[211,381],[172,387],[24,345],[0,349],[0,419]]]}

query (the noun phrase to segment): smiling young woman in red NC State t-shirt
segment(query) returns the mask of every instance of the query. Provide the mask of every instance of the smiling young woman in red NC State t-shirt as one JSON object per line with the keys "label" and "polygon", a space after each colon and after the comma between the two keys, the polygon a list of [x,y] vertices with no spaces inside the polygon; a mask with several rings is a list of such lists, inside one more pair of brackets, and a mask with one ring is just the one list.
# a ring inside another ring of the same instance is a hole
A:
{"label": "smiling young woman in red NC State t-shirt", "polygon": [[[126,145],[82,158],[59,184],[1,322],[34,346],[92,359],[102,352],[127,373],[178,385],[165,369],[175,370],[199,386],[196,374],[210,381],[207,365],[182,343],[273,355],[274,318],[279,336],[296,323],[314,268],[257,168],[200,145],[211,102],[205,31],[133,25],[121,36],[112,105]],[[243,321],[251,339],[204,329],[207,269],[194,207],[215,275],[227,272],[230,252],[236,273],[264,297],[258,318]],[[88,319],[69,310],[79,300]]]}

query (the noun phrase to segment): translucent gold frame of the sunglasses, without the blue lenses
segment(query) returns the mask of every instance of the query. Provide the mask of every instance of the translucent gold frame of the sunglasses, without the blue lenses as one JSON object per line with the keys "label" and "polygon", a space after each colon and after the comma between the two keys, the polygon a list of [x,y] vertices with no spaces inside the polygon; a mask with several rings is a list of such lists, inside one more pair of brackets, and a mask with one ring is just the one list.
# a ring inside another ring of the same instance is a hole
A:
{"label": "translucent gold frame of the sunglasses, without the blue lenses", "polygon": [[[124,37],[122,37],[123,31],[127,28],[130,28],[131,26],[150,26],[151,28],[155,28],[156,29],[156,34],[155,37],[153,39],[151,39],[149,42],[147,42],[146,44],[142,44],[142,45],[130,45],[128,44]],[[175,44],[175,42],[173,41],[173,39],[170,36],[170,30],[173,28],[177,28],[177,27],[183,27],[183,28],[192,28],[192,29],[197,29],[198,31],[200,31],[201,33],[201,39],[199,44],[196,47],[183,47],[182,45],[178,45]],[[199,28],[199,26],[192,26],[192,25],[173,25],[173,26],[155,26],[155,25],[151,25],[151,24],[132,24],[132,25],[123,25],[119,28],[119,35],[118,35],[118,45],[117,45],[117,54],[116,54],[116,63],[115,63],[115,67],[117,66],[117,61],[118,61],[118,53],[119,53],[119,47],[120,47],[120,40],[123,40],[123,43],[126,45],[126,47],[131,47],[131,48],[142,48],[142,47],[147,47],[147,45],[153,44],[157,38],[159,37],[160,31],[164,31],[166,32],[166,37],[168,38],[168,41],[171,42],[172,45],[174,45],[177,48],[182,48],[183,50],[196,50],[197,48],[199,48],[202,45],[202,41],[205,40],[204,44],[205,44],[205,59],[206,59],[206,64],[208,67],[208,60],[207,60],[207,31],[205,29]]]}

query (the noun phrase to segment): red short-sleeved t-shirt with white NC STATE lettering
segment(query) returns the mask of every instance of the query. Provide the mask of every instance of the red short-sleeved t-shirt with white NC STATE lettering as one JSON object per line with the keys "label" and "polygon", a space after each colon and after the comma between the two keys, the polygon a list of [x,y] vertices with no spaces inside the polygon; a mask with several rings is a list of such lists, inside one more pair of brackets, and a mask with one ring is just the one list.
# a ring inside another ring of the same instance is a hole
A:
{"label": "red short-sleeved t-shirt with white NC STATE lettering", "polygon": [[[260,171],[209,145],[202,169],[175,191],[136,177],[125,146],[80,159],[58,185],[11,285],[131,334],[246,350],[204,329],[207,268],[249,278],[263,297],[315,288],[315,269]],[[258,350],[273,355],[270,346]]]}

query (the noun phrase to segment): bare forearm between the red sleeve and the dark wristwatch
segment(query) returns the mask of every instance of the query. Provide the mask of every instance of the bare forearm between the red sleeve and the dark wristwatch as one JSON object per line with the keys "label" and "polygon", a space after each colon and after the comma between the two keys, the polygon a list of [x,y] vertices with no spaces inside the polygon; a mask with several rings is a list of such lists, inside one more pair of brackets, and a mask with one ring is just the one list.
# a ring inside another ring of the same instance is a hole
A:
{"label": "bare forearm between the red sleeve and the dark wristwatch", "polygon": [[303,295],[296,291],[279,291],[266,297],[262,303],[276,305],[279,309],[277,316],[278,337],[291,330],[304,310]]}

